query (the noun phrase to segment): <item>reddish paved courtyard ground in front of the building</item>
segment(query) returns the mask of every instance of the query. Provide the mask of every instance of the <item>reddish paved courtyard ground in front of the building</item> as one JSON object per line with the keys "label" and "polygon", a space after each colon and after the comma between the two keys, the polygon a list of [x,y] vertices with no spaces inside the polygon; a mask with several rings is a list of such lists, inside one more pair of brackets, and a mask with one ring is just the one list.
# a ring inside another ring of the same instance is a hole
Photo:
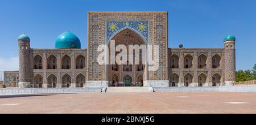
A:
{"label": "reddish paved courtyard ground in front of the building", "polygon": [[256,113],[256,93],[72,93],[0,96],[0,113]]}

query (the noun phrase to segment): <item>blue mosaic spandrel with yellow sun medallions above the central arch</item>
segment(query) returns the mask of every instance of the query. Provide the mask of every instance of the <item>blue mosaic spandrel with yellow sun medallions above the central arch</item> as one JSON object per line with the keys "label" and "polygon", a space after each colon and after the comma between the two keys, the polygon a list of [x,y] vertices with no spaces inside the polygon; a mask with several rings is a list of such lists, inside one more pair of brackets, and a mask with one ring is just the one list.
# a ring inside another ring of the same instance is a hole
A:
{"label": "blue mosaic spandrel with yellow sun medallions above the central arch", "polygon": [[127,20],[127,21],[106,21],[106,44],[112,37],[123,29],[130,28],[139,33],[148,43],[148,21],[147,20]]}

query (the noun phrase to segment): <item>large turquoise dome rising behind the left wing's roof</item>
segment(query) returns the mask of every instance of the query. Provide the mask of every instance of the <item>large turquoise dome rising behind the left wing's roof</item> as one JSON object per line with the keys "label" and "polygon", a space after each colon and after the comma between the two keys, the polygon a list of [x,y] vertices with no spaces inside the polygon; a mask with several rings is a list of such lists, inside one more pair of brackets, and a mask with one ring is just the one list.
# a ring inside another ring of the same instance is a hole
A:
{"label": "large turquoise dome rising behind the left wing's roof", "polygon": [[55,48],[75,48],[81,49],[81,43],[79,38],[72,32],[61,33],[55,40]]}

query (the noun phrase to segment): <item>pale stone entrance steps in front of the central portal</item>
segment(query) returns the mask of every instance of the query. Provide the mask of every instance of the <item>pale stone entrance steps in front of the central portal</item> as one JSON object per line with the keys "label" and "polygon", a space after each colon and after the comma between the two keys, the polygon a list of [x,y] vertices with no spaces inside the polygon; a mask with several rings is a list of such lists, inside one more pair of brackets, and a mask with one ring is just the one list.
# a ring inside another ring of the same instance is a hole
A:
{"label": "pale stone entrance steps in front of the central portal", "polygon": [[109,93],[129,93],[129,92],[153,92],[152,87],[108,87]]}

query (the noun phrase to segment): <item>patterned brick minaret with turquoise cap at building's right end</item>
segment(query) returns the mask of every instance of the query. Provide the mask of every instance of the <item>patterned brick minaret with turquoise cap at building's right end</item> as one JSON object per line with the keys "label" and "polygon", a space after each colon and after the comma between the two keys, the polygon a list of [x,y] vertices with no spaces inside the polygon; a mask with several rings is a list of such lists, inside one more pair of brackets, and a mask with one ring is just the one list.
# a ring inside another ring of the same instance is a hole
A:
{"label": "patterned brick minaret with turquoise cap at building's right end", "polygon": [[226,36],[224,38],[225,48],[225,85],[234,85],[236,81],[236,37]]}

